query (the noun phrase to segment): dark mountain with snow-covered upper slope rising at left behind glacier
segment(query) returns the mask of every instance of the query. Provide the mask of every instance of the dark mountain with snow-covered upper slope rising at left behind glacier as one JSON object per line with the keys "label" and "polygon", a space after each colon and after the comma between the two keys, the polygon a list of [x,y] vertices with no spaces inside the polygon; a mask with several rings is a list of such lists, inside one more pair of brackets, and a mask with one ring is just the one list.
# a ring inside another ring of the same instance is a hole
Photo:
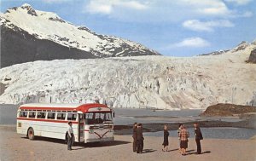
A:
{"label": "dark mountain with snow-covered upper slope rising at left behind glacier", "polygon": [[1,66],[33,60],[160,55],[142,44],[74,26],[55,13],[32,9],[29,4],[1,13],[0,23]]}

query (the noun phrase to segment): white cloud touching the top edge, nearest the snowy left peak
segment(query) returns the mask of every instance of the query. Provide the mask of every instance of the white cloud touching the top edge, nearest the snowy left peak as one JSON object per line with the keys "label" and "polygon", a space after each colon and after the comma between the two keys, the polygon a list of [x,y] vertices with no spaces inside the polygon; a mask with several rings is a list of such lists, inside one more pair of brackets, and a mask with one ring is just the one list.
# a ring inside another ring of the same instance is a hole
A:
{"label": "white cloud touching the top edge, nearest the snowy left peak", "polygon": [[137,1],[123,0],[93,0],[86,4],[85,11],[91,14],[111,14],[115,9],[147,9],[147,6]]}

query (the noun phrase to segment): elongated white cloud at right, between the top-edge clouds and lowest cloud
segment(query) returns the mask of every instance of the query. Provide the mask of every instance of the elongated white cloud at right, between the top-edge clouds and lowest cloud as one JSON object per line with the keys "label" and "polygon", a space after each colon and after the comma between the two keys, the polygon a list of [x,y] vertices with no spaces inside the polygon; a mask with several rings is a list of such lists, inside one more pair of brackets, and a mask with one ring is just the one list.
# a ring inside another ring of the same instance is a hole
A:
{"label": "elongated white cloud at right, between the top-edge clouds and lowest cloud", "polygon": [[197,32],[212,32],[214,27],[233,27],[235,26],[230,20],[186,20],[183,27]]}

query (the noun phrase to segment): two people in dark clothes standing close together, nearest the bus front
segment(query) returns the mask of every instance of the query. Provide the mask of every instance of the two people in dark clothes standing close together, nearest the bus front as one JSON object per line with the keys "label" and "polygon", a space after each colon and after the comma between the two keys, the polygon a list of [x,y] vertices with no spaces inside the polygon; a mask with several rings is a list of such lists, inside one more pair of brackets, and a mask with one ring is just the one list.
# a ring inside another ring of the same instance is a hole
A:
{"label": "two people in dark clothes standing close together, nearest the bus front", "polygon": [[133,152],[143,153],[144,137],[143,137],[143,124],[133,124]]}

